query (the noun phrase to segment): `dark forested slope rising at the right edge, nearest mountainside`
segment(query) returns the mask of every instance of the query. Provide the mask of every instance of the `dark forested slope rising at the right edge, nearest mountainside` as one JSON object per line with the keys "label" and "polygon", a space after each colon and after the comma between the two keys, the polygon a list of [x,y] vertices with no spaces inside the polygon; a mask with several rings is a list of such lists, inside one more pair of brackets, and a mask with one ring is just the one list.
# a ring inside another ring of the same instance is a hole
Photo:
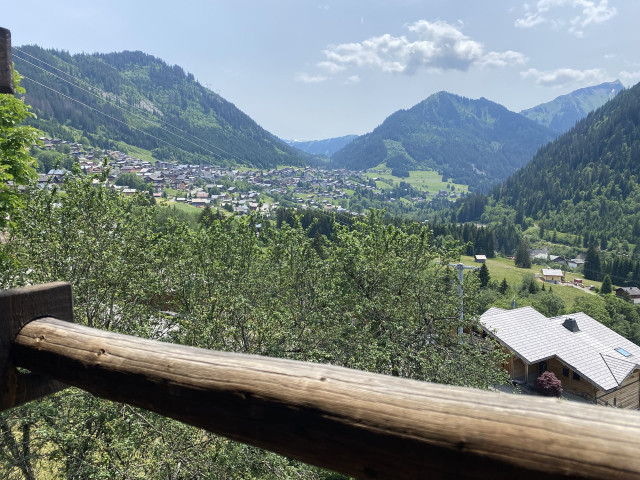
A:
{"label": "dark forested slope rising at the right edge, nearest mountainside", "polygon": [[640,238],[640,84],[543,147],[492,203],[591,237]]}

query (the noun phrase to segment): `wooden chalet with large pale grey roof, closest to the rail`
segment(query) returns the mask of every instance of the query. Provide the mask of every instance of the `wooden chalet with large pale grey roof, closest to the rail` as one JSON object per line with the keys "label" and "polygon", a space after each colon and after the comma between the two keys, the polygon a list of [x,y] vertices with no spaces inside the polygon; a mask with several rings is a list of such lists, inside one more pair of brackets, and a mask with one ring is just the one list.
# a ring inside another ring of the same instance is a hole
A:
{"label": "wooden chalet with large pale grey roof, closest to the rail", "polygon": [[513,380],[533,383],[548,370],[593,403],[640,408],[640,347],[585,313],[547,318],[531,307],[494,307],[480,323],[510,353]]}

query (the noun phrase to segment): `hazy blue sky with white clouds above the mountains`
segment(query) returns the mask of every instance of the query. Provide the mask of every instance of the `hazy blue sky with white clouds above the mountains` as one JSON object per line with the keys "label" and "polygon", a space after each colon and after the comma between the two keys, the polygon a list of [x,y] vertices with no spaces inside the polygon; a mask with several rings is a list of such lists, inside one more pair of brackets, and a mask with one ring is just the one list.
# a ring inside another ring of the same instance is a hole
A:
{"label": "hazy blue sky with white clouds above the mountains", "polygon": [[513,111],[640,81],[638,0],[23,0],[14,45],[142,50],[270,132],[363,134],[446,90]]}

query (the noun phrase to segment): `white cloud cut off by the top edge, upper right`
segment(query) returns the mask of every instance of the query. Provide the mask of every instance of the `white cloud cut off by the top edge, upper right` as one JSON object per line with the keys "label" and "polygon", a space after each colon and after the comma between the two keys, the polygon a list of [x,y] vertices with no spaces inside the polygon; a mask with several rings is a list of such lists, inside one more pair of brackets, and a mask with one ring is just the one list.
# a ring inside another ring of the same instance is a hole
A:
{"label": "white cloud cut off by the top edge, upper right", "polygon": [[[559,18],[558,9],[564,8],[572,12],[568,21],[569,32],[577,37],[584,35],[585,27],[606,22],[618,13],[616,7],[609,6],[609,0],[538,0],[533,5],[525,3],[523,7],[524,15],[516,19],[516,27],[532,28],[543,23],[562,27],[567,22]],[[579,11],[577,15],[575,10]]]}

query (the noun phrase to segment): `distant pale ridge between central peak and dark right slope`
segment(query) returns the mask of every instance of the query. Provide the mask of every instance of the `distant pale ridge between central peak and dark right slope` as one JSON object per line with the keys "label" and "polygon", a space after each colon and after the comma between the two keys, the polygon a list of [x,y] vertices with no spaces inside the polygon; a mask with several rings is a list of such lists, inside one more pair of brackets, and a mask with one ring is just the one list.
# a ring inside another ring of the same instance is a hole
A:
{"label": "distant pale ridge between central peak and dark right slope", "polygon": [[587,114],[607,103],[624,90],[620,80],[586,87],[520,112],[540,125],[564,133]]}

